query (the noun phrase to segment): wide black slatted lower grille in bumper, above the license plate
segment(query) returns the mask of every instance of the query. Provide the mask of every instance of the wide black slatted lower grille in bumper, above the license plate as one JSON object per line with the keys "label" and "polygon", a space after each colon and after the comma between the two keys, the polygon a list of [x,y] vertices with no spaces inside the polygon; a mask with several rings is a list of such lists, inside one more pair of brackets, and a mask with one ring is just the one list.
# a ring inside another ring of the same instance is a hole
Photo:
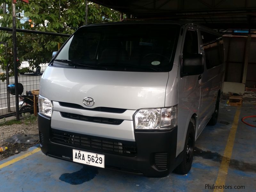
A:
{"label": "wide black slatted lower grille in bumper, above the license plate", "polygon": [[51,138],[55,143],[78,147],[81,149],[90,149],[130,156],[135,156],[137,153],[136,144],[132,141],[111,140],[108,138],[62,132],[53,129]]}

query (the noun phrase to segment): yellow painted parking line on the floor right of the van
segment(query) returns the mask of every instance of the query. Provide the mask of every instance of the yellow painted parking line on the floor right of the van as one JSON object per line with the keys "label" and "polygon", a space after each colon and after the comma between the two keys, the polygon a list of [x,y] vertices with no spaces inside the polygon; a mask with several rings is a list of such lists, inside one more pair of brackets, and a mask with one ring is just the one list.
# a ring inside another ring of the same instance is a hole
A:
{"label": "yellow painted parking line on the floor right of the van", "polygon": [[[235,137],[236,137],[236,130],[237,130],[237,124],[239,121],[240,112],[241,112],[241,107],[237,107],[234,121],[233,121],[232,127],[229,132],[228,141],[226,144],[224,155],[221,160],[220,169],[219,169],[217,180],[215,182],[215,186],[223,186],[226,183],[226,177],[228,174],[228,166],[229,166],[230,158],[232,155],[232,150],[233,150],[234,141],[235,141]],[[224,190],[223,188],[222,189],[214,189],[214,192],[217,192],[217,191],[220,192],[223,190]]]}

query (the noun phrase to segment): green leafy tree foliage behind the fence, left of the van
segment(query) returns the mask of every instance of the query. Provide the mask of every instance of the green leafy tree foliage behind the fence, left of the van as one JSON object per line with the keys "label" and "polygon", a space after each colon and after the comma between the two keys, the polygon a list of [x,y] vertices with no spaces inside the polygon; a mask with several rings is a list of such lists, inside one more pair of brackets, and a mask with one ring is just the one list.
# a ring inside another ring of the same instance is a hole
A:
{"label": "green leafy tree foliage behind the fence, left of the van", "polygon": [[[7,13],[3,13],[3,2],[8,6]],[[11,0],[0,0],[0,25],[12,28]],[[19,13],[24,11],[29,21],[22,24],[23,19]],[[120,13],[107,7],[88,3],[88,24],[100,22],[113,22],[119,20]],[[54,33],[72,34],[76,28],[85,24],[85,0],[29,0],[26,4],[20,0],[16,3],[16,27],[30,30],[47,31]],[[31,26],[33,25],[33,26]],[[18,65],[29,60],[29,65],[36,68],[40,63],[51,60],[53,51],[58,49],[58,43],[63,44],[66,37],[45,36],[36,34],[23,34],[17,32]],[[0,65],[3,69],[9,66],[10,76],[14,75],[12,56],[12,33],[0,31]],[[20,72],[26,72],[22,69]],[[0,79],[4,81],[5,76]]]}

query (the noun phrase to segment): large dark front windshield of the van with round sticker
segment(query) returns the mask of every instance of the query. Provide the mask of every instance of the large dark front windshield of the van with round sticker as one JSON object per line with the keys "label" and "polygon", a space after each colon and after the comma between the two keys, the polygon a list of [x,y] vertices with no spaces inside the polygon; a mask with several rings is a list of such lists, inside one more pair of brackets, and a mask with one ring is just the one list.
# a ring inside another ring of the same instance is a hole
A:
{"label": "large dark front windshield of the van with round sticker", "polygon": [[172,69],[179,25],[117,24],[79,28],[53,66],[167,72]]}

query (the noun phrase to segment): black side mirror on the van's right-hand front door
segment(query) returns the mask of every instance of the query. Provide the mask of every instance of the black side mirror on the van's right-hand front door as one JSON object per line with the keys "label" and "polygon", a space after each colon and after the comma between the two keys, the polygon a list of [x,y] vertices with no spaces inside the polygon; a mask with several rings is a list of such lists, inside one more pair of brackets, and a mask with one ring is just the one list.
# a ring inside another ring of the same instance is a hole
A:
{"label": "black side mirror on the van's right-hand front door", "polygon": [[204,60],[201,54],[183,55],[182,72],[183,76],[200,75],[204,72]]}

